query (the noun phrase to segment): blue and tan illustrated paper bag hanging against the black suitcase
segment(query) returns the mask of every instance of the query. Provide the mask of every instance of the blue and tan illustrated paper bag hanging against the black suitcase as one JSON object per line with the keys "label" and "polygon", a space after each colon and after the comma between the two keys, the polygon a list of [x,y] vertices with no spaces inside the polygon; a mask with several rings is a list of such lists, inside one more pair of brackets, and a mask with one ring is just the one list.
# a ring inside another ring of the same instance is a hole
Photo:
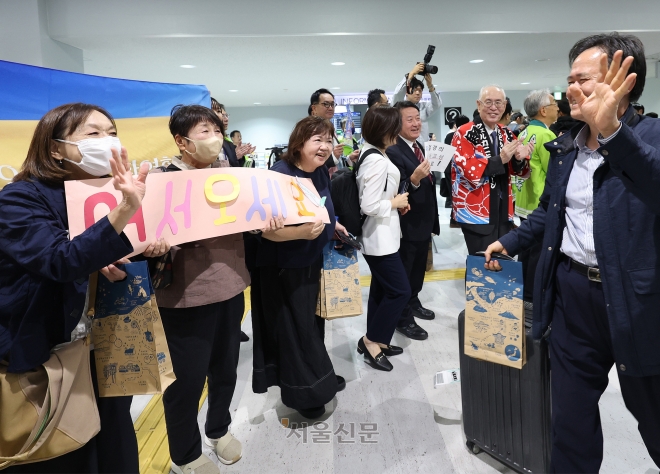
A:
{"label": "blue and tan illustrated paper bag hanging against the black suitcase", "polygon": [[465,277],[465,354],[522,369],[525,315],[522,264],[497,259],[502,271],[484,269],[484,257],[468,256]]}

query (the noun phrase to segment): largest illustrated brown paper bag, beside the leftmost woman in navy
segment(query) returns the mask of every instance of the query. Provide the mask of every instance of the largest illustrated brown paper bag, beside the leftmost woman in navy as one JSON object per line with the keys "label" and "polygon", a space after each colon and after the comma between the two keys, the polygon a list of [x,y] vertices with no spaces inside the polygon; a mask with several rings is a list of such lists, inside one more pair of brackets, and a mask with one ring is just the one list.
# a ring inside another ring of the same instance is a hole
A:
{"label": "largest illustrated brown paper bag, beside the leftmost woman in navy", "polygon": [[162,393],[176,380],[147,262],[124,271],[119,282],[98,277],[92,340],[101,397]]}

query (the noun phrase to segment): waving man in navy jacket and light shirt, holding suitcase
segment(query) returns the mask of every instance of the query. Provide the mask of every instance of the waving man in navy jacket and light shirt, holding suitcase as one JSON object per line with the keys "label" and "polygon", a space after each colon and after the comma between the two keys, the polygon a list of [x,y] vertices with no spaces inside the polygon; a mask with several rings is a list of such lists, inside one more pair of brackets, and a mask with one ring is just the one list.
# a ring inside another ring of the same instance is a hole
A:
{"label": "waving man in navy jacket and light shirt, holding suitcase", "polygon": [[488,248],[486,268],[499,266],[492,252],[542,242],[533,331],[541,338],[552,323],[550,471],[599,471],[598,401],[613,365],[660,466],[660,120],[630,105],[644,90],[644,46],[632,35],[589,36],[569,62],[571,116],[585,125],[546,144],[539,207]]}

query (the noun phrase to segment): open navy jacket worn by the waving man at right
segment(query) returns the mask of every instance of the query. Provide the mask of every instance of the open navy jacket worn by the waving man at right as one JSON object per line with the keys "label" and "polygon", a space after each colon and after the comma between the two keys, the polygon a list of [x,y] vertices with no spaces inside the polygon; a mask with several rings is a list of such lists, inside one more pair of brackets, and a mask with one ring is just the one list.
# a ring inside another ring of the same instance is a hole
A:
{"label": "open navy jacket worn by the waving man at right", "polygon": [[[598,149],[604,164],[593,179],[593,225],[617,370],[646,376],[660,374],[660,120],[633,114],[629,107],[619,133]],[[534,280],[536,338],[552,321],[580,128],[545,145],[550,161],[539,207],[500,239],[512,255],[543,242]]]}

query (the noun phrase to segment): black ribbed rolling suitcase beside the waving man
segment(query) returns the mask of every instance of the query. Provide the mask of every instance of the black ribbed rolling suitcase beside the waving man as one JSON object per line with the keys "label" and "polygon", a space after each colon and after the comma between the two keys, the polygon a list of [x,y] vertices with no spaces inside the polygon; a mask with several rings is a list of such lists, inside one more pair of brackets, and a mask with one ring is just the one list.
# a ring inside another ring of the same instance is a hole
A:
{"label": "black ribbed rolling suitcase beside the waving man", "polygon": [[458,316],[463,427],[467,447],[521,473],[550,469],[550,361],[525,314],[527,363],[514,369],[465,355],[465,311]]}

